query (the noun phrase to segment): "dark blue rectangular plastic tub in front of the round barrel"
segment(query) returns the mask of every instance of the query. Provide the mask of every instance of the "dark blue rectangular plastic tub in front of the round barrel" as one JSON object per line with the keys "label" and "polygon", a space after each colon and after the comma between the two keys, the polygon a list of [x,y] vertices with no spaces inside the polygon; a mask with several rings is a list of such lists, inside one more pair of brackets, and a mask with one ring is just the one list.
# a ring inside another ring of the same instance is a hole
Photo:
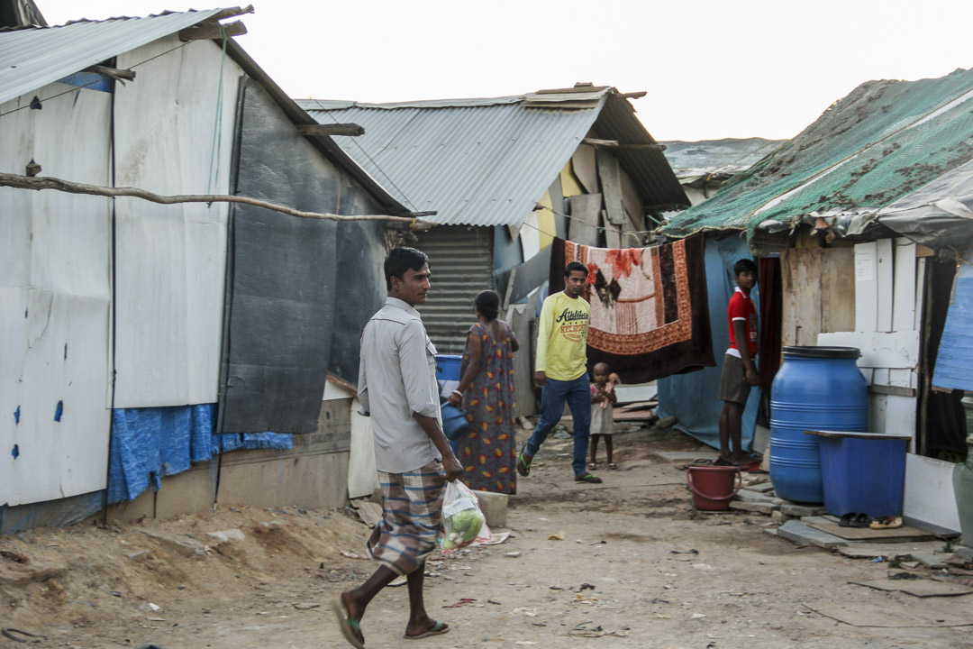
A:
{"label": "dark blue rectangular plastic tub in front of the round barrel", "polygon": [[809,430],[821,451],[824,509],[835,516],[902,515],[909,435]]}

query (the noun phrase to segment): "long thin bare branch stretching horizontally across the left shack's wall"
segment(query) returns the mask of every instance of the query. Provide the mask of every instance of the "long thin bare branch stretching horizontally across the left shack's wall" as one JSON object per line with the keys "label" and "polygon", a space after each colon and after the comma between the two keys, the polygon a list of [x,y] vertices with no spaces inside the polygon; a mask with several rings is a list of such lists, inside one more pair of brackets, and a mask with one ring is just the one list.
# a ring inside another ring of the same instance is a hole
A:
{"label": "long thin bare branch stretching horizontally across the left shack's wall", "polygon": [[[280,212],[290,216],[297,216],[302,219],[330,219],[332,221],[397,221],[415,224],[415,226],[421,224],[427,227],[436,225],[430,221],[422,221],[414,216],[388,216],[385,214],[358,214],[345,216],[342,214],[330,214],[327,212],[302,212],[301,210],[293,209],[291,207],[287,207],[286,205],[278,205],[276,203],[268,202],[267,200],[259,200],[257,198],[219,194],[162,196],[159,194],[153,194],[152,192],[147,192],[145,190],[140,190],[135,187],[100,187],[98,185],[73,183],[67,180],[61,180],[60,178],[52,178],[50,176],[31,177],[21,176],[16,173],[0,173],[0,187],[13,187],[21,190],[34,190],[36,192],[41,190],[55,190],[57,192],[66,192],[68,194],[87,194],[90,196],[102,196],[108,198],[142,198],[143,200],[158,202],[162,203],[163,205],[182,202],[236,202],[244,205],[263,207],[264,209],[270,209],[274,212]],[[423,215],[431,214],[435,214],[435,212],[423,212]],[[424,230],[425,228],[422,229]]]}

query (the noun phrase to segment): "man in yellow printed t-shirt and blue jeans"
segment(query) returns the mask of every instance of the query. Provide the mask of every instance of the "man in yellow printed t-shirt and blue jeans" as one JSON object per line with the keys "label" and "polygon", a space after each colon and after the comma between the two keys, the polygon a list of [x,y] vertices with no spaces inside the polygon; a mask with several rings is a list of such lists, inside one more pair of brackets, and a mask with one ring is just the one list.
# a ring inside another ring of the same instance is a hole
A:
{"label": "man in yellow printed t-shirt and blue jeans", "polygon": [[541,417],[517,458],[517,472],[524,477],[530,475],[530,463],[560,421],[566,402],[574,421],[574,480],[601,482],[585,467],[592,423],[592,393],[587,371],[591,308],[581,297],[587,281],[585,265],[571,262],[564,269],[564,290],[548,296],[541,307],[534,365],[534,382],[543,387]]}

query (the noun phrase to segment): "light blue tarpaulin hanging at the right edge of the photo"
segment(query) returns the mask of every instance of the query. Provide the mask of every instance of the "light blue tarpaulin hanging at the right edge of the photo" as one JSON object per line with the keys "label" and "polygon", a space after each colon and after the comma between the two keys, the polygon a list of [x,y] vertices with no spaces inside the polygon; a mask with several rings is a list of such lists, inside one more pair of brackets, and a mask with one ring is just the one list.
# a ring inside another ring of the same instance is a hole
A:
{"label": "light blue tarpaulin hanging at the right edge of the photo", "polygon": [[[973,262],[973,253],[966,257]],[[932,384],[955,390],[973,390],[973,266],[962,264],[956,272],[953,302],[946,315]]]}

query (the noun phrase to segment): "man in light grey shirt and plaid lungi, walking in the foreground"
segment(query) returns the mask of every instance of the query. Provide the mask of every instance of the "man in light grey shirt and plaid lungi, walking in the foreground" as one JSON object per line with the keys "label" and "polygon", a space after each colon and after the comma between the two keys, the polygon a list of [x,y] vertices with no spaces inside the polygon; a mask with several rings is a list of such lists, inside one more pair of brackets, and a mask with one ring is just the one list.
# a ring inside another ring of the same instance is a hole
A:
{"label": "man in light grey shirt and plaid lungi, walking in the foreground", "polygon": [[385,306],[362,332],[358,399],[372,418],[382,501],[381,520],[366,548],[381,565],[334,604],[344,638],[357,649],[365,646],[365,608],[399,575],[407,575],[409,584],[406,637],[450,629],[426,614],[422,598],[425,558],[436,547],[444,487],[463,473],[443,434],[436,347],[414,308],[425,302],[429,276],[425,254],[392,250],[385,259]]}

